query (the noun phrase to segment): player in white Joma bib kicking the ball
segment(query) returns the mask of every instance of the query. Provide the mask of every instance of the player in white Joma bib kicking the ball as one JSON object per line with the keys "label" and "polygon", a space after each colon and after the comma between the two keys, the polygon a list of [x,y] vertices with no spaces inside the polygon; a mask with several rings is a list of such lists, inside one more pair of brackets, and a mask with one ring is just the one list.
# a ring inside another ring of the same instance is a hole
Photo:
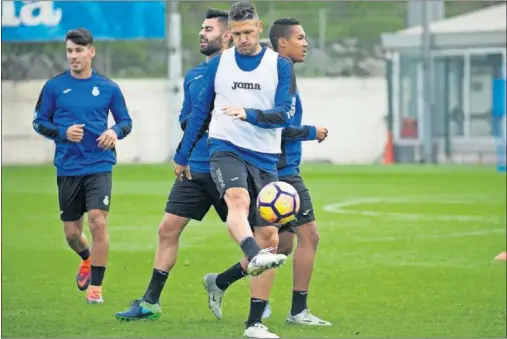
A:
{"label": "player in white Joma bib kicking the ball", "polygon": [[[211,174],[228,206],[229,232],[248,260],[246,273],[258,275],[286,260],[285,255],[270,252],[278,245],[278,229],[260,219],[255,198],[262,187],[278,180],[282,128],[294,115],[296,84],[292,62],[260,46],[262,22],[251,3],[233,4],[229,26],[235,48],[208,63],[203,91],[174,157],[174,168],[178,178],[190,177],[188,154],[213,106],[208,141]],[[256,239],[251,225],[257,226]],[[269,290],[258,283],[261,280],[252,279],[244,335],[276,338],[260,321],[269,296]]]}

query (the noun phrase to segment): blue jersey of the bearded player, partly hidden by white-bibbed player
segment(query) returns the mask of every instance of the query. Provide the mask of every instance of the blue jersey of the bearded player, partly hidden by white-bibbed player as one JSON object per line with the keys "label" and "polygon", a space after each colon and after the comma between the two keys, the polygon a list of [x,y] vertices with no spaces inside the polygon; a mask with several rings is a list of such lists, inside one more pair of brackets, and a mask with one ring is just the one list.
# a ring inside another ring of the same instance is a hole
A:
{"label": "blue jersey of the bearded player, partly hidden by white-bibbed player", "polygon": [[[199,93],[201,93],[206,66],[207,63],[202,62],[198,66],[190,69],[185,75],[185,80],[183,82],[184,99],[179,117],[183,130],[185,130],[187,126],[188,116],[192,112],[192,106],[197,102]],[[188,165],[192,172],[209,173],[210,163],[207,143],[208,133],[205,132],[199,141],[197,141],[188,159]]]}

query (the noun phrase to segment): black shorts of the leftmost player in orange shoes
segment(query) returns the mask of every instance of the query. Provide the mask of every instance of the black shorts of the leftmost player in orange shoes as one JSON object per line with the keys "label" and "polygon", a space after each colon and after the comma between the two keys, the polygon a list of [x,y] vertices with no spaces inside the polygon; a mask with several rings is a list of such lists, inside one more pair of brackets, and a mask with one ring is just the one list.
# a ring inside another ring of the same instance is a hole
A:
{"label": "black shorts of the leftmost player in orange shoes", "polygon": [[77,221],[93,209],[109,211],[113,189],[111,172],[75,177],[58,176],[56,183],[62,221]]}

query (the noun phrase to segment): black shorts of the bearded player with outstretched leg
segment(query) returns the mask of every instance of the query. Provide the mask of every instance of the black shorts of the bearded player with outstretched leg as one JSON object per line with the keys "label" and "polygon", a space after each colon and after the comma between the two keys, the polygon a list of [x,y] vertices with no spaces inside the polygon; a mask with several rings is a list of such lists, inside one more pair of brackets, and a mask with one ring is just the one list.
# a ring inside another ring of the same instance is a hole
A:
{"label": "black shorts of the bearded player with outstretched leg", "polygon": [[220,198],[211,174],[191,173],[192,180],[174,180],[165,211],[183,218],[201,221],[211,206],[215,207],[220,219],[227,220],[227,205]]}

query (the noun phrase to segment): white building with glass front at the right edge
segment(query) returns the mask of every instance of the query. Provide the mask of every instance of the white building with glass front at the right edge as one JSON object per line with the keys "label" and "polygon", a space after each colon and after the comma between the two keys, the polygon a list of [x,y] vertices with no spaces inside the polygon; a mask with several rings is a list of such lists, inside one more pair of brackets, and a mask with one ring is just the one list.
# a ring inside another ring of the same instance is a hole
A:
{"label": "white building with glass front at the right edge", "polygon": [[[501,123],[493,116],[498,109],[493,93],[494,81],[505,79],[506,21],[503,3],[429,25],[432,129],[439,161],[496,161],[495,133]],[[392,131],[400,161],[417,161],[421,144],[421,33],[419,26],[382,34],[392,60]]]}

